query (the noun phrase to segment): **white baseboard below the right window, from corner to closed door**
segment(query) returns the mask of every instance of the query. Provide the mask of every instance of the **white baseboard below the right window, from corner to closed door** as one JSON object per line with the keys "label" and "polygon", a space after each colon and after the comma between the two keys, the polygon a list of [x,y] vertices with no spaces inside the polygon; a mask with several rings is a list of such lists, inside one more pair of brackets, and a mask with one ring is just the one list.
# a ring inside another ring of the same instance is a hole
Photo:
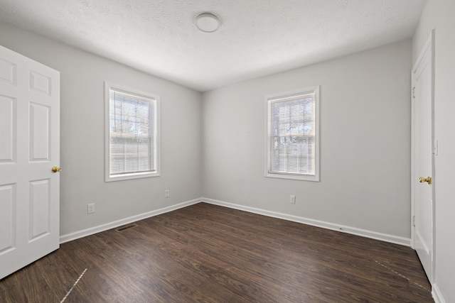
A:
{"label": "white baseboard below the right window, from corner to closed door", "polygon": [[402,246],[409,246],[409,247],[411,246],[410,238],[393,236],[393,235],[389,235],[387,233],[378,233],[375,231],[367,231],[367,230],[361,229],[361,228],[355,228],[355,227],[350,227],[350,226],[345,226],[345,225],[338,225],[338,224],[333,224],[333,223],[329,223],[329,222],[325,222],[325,221],[308,219],[308,218],[304,218],[301,216],[293,216],[290,214],[282,214],[282,213],[275,212],[275,211],[267,211],[264,209],[256,209],[254,207],[242,206],[239,204],[232,204],[232,203],[218,201],[218,200],[214,200],[214,199],[201,198],[200,201],[207,202],[209,204],[215,204],[215,205],[219,205],[219,206],[229,207],[231,209],[239,209],[242,211],[249,211],[249,212],[252,212],[255,214],[262,214],[264,216],[272,216],[272,217],[278,218],[278,219],[284,219],[284,220],[294,221],[294,222],[307,224],[307,225],[311,225],[311,226],[327,228],[327,229],[331,229],[333,231],[341,231],[343,233],[350,233],[350,234],[353,234],[356,236],[363,236],[366,238],[373,238],[375,240],[400,244]]}

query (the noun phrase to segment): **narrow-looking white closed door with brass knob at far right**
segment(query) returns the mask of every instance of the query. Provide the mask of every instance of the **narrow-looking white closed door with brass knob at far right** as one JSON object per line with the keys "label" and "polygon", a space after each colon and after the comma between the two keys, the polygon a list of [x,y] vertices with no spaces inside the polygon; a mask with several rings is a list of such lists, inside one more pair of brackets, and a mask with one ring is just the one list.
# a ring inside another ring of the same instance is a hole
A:
{"label": "narrow-looking white closed door with brass knob at far right", "polygon": [[412,69],[412,238],[414,249],[430,282],[432,282],[434,243],[432,48],[432,37],[430,37]]}

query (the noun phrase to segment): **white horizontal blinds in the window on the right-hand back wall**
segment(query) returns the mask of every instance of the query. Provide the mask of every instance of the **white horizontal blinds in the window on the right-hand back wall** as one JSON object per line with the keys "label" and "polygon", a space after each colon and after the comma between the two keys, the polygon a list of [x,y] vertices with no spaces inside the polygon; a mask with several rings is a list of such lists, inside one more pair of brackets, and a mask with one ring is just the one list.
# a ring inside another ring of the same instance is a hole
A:
{"label": "white horizontal blinds in the window on the right-hand back wall", "polygon": [[269,173],[315,175],[314,92],[269,99]]}

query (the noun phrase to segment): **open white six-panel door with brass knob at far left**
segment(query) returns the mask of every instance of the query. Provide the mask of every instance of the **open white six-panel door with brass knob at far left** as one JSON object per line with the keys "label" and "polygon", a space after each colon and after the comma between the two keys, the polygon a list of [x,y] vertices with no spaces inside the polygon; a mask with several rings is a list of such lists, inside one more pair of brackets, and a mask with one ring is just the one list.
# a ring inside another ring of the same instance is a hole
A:
{"label": "open white six-panel door with brass knob at far left", "polygon": [[59,247],[60,72],[0,46],[0,279]]}

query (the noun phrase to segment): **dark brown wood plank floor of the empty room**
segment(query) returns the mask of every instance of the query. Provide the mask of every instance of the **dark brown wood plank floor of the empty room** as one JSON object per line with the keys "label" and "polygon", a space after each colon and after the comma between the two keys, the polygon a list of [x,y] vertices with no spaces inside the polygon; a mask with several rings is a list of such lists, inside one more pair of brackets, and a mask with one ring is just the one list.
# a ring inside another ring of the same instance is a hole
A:
{"label": "dark brown wood plank floor of the empty room", "polygon": [[135,224],[62,244],[0,302],[433,302],[404,246],[204,203]]}

